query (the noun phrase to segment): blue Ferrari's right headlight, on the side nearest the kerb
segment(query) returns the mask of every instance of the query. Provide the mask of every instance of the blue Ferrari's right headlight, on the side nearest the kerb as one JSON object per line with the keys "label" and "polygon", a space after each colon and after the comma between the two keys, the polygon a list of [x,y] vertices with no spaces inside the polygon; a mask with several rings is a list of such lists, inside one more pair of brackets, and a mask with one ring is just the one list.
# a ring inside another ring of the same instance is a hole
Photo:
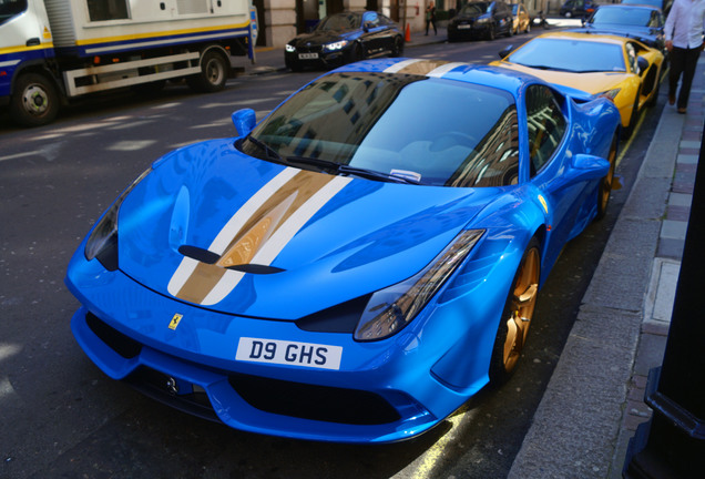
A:
{"label": "blue Ferrari's right headlight, on the side nearest the kerb", "polygon": [[355,339],[379,340],[401,330],[462,264],[483,233],[463,231],[416,276],[375,293],[355,329]]}

